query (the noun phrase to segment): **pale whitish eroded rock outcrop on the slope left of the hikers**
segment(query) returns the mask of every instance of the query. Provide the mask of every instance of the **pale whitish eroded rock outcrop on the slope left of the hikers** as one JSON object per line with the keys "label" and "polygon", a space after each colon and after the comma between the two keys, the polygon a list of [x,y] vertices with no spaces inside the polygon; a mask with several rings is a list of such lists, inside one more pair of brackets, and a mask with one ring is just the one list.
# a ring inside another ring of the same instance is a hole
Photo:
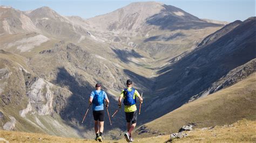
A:
{"label": "pale whitish eroded rock outcrop on the slope left of the hikers", "polygon": [[19,115],[25,117],[29,112],[38,112],[39,115],[53,115],[59,113],[67,104],[66,98],[72,93],[69,90],[56,87],[43,78],[32,78],[26,82],[26,95],[29,103],[25,109],[19,111]]}

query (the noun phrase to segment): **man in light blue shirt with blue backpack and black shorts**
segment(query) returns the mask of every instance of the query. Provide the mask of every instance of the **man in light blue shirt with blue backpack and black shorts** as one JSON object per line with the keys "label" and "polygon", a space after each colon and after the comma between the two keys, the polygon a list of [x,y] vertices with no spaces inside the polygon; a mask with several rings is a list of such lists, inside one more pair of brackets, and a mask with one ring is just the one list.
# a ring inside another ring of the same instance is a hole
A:
{"label": "man in light blue shirt with blue backpack and black shorts", "polygon": [[102,133],[104,130],[104,102],[106,102],[107,108],[109,106],[109,98],[107,98],[106,92],[101,90],[102,85],[100,83],[97,83],[95,88],[96,90],[91,92],[89,102],[92,104],[92,113],[95,120],[95,140],[102,142]]}

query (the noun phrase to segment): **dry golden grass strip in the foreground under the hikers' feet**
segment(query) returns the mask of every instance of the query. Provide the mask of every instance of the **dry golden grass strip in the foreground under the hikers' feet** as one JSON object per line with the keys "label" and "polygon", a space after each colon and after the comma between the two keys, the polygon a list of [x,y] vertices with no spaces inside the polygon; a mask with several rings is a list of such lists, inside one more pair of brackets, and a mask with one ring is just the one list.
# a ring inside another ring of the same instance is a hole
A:
{"label": "dry golden grass strip in the foreground under the hikers' feet", "polygon": [[[256,141],[256,121],[240,120],[232,125],[216,126],[209,128],[196,129],[186,132],[188,137],[174,139],[173,142],[237,142],[237,141]],[[10,142],[96,142],[88,139],[62,138],[46,134],[25,133],[0,130],[0,137]],[[158,137],[137,138],[134,142],[165,142],[170,135],[159,135]],[[0,140],[1,141],[1,140]],[[121,140],[104,140],[104,142],[126,142]]]}

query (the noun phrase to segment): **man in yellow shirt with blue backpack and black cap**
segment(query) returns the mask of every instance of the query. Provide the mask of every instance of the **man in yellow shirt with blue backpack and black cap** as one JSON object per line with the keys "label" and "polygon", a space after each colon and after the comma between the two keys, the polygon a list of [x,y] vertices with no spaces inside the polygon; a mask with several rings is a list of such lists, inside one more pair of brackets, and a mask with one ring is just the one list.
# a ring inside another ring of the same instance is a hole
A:
{"label": "man in yellow shirt with blue backpack and black cap", "polygon": [[[124,111],[126,119],[127,133],[125,133],[125,138],[127,142],[133,141],[132,139],[132,130],[136,127],[137,123],[137,107],[136,107],[136,97],[139,98],[140,103],[143,102],[142,97],[139,95],[139,92],[132,88],[132,81],[126,81],[127,88],[121,92],[121,95],[118,100],[118,106],[121,108],[122,98],[124,97]],[[132,122],[132,124],[131,124]]]}

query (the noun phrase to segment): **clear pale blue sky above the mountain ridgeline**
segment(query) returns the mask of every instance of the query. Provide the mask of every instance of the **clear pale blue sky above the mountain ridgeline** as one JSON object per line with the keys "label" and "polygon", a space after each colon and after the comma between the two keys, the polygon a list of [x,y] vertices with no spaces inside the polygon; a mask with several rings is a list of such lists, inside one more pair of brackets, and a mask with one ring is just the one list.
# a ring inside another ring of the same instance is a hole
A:
{"label": "clear pale blue sky above the mountain ridgeline", "polygon": [[[49,6],[64,16],[90,18],[122,8],[132,2],[142,1],[92,1],[92,0],[0,0],[0,5],[12,6],[22,11]],[[199,18],[233,22],[255,16],[255,0],[169,0],[157,1],[173,5]]]}

